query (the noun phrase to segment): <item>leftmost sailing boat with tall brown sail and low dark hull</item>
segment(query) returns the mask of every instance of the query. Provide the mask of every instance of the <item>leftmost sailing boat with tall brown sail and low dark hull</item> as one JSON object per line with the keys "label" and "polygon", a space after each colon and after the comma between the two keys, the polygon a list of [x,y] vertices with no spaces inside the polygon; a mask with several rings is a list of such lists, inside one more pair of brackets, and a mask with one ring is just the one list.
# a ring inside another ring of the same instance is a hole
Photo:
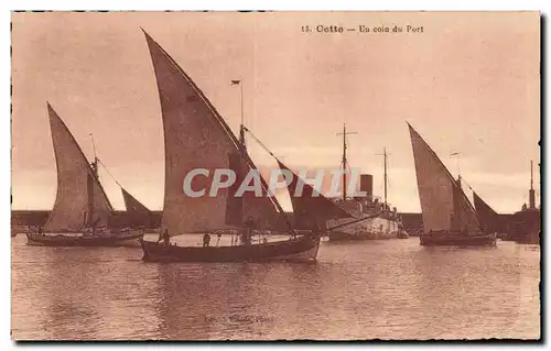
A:
{"label": "leftmost sailing boat with tall brown sail and low dark hull", "polygon": [[57,194],[44,229],[28,232],[26,244],[137,245],[143,230],[107,228],[114,209],[98,179],[98,158],[88,164],[73,134],[50,103],[47,111],[57,168]]}

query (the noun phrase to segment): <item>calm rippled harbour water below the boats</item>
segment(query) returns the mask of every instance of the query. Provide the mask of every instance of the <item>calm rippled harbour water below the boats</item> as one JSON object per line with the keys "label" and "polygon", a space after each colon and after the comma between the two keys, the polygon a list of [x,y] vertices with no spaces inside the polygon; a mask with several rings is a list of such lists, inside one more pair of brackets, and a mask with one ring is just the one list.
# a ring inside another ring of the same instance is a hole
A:
{"label": "calm rippled harbour water below the boats", "polygon": [[156,264],[139,248],[25,240],[12,239],[15,340],[540,337],[536,245],[410,238],[322,242],[314,264]]}

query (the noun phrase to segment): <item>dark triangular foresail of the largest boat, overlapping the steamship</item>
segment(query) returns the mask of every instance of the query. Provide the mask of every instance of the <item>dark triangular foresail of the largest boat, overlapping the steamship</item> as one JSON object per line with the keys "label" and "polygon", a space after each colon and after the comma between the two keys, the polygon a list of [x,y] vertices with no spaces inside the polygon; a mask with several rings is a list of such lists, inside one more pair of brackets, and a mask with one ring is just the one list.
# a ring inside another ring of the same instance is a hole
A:
{"label": "dark triangular foresail of the largest boat, overlapping the steamship", "polygon": [[[325,228],[325,223],[328,219],[353,218],[352,215],[333,204],[333,201],[322,194],[315,197],[312,196],[314,188],[310,184],[304,182],[280,161],[278,161],[278,164],[281,169],[289,171],[293,174],[293,179],[288,186],[288,190],[293,205],[295,227],[311,228],[316,223],[318,228]],[[302,187],[302,194],[295,196],[299,186]]]}

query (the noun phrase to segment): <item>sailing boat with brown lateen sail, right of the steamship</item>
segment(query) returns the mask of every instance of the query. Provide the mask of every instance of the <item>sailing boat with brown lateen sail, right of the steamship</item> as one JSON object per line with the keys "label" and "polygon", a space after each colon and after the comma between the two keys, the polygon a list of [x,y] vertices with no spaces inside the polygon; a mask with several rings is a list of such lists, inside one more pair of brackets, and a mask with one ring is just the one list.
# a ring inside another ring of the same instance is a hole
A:
{"label": "sailing boat with brown lateen sail, right of the steamship", "polygon": [[421,245],[495,245],[484,233],[461,184],[408,123],[423,217]]}

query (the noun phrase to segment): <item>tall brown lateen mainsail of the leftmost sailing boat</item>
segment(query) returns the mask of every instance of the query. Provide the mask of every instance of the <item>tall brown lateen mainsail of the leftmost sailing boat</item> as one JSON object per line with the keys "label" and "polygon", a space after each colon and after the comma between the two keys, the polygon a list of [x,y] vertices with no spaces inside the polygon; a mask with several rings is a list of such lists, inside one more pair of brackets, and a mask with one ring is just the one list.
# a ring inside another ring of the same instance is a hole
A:
{"label": "tall brown lateen mainsail of the leftmost sailing boat", "polygon": [[[57,167],[57,194],[45,231],[77,231],[107,226],[111,204],[69,130],[47,103]],[[93,216],[90,217],[90,208]]]}

